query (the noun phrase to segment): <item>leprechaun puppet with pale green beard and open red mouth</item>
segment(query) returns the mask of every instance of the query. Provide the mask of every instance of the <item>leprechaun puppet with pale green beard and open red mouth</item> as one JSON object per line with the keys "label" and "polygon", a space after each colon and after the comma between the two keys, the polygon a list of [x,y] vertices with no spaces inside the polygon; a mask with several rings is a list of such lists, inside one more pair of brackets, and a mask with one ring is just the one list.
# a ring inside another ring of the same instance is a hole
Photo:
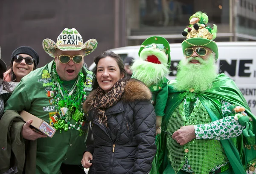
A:
{"label": "leprechaun puppet with pale green beard and open red mouth", "polygon": [[152,93],[152,104],[157,115],[157,134],[161,133],[162,117],[168,98],[166,75],[171,63],[169,42],[159,36],[147,38],[139,51],[140,59],[131,67],[132,78],[143,81]]}

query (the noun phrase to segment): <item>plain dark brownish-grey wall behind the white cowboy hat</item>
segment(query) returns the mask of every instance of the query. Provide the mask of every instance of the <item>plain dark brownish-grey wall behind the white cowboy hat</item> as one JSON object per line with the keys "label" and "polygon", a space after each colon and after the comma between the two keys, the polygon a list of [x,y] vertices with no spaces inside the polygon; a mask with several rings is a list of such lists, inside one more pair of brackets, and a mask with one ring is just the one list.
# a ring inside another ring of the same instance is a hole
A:
{"label": "plain dark brownish-grey wall behind the white cowboy hat", "polygon": [[[114,0],[1,0],[0,46],[2,59],[9,64],[19,46],[34,48],[39,67],[52,58],[44,52],[44,38],[57,40],[64,28],[76,28],[84,42],[95,38],[97,49],[85,57],[88,66],[93,58],[114,47]],[[119,45],[118,45],[119,46]]]}

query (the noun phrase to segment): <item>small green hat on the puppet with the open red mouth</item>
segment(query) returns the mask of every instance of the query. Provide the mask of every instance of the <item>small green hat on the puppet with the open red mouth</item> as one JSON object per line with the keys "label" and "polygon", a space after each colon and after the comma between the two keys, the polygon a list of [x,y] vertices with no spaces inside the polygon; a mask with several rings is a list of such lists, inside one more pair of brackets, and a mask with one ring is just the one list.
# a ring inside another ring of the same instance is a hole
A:
{"label": "small green hat on the puppet with the open red mouth", "polygon": [[166,40],[166,38],[160,36],[152,36],[150,38],[147,38],[140,46],[139,56],[140,52],[144,49],[144,47],[150,44],[163,44],[166,47],[166,54],[168,54],[168,64],[171,63],[169,42]]}

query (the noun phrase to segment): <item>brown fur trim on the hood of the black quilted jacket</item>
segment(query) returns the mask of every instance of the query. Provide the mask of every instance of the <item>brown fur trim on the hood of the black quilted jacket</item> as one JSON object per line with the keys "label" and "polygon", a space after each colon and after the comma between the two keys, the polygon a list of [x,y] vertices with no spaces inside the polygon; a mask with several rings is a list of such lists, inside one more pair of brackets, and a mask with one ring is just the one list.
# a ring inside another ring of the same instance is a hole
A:
{"label": "brown fur trim on the hood of the black quilted jacket", "polygon": [[[85,112],[90,110],[91,106],[88,103],[93,99],[95,93],[96,90],[93,90],[84,101],[83,109]],[[148,87],[143,82],[131,78],[125,86],[125,92],[121,100],[123,102],[134,102],[136,100],[151,100],[151,98],[151,91],[148,89]]]}

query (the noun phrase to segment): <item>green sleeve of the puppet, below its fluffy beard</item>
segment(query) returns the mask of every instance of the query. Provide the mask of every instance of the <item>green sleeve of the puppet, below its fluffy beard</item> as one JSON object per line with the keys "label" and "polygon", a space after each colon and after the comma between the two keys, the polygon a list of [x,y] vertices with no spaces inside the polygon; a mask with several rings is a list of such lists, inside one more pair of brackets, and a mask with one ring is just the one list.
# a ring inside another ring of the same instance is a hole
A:
{"label": "green sleeve of the puppet, below its fluffy beard", "polygon": [[166,102],[168,98],[168,86],[167,83],[162,84],[162,89],[157,91],[156,101],[155,101],[155,113],[156,116],[164,116],[164,109],[166,107]]}

